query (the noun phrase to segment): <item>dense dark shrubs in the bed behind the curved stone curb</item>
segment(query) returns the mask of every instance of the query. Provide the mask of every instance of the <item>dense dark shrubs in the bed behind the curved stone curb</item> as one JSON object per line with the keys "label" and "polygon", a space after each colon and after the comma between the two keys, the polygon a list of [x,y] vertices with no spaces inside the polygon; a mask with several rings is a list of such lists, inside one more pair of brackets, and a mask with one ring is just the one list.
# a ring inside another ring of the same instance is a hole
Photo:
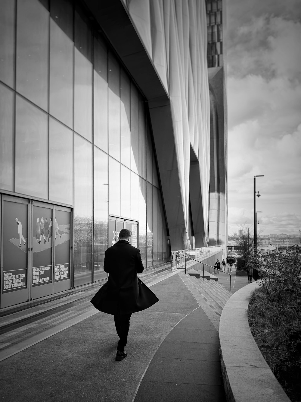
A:
{"label": "dense dark shrubs in the bed behind the curved stone curb", "polygon": [[250,329],[291,400],[300,401],[301,249],[294,246],[261,255],[256,268],[261,283],[250,298]]}

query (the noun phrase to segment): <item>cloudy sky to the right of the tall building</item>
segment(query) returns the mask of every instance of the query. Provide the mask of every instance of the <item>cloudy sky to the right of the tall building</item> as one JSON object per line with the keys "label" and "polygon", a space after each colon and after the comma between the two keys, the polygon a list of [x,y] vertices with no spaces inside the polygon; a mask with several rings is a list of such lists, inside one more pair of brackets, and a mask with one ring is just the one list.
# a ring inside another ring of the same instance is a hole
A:
{"label": "cloudy sky to the right of the tall building", "polygon": [[301,0],[227,0],[228,234],[301,229]]}

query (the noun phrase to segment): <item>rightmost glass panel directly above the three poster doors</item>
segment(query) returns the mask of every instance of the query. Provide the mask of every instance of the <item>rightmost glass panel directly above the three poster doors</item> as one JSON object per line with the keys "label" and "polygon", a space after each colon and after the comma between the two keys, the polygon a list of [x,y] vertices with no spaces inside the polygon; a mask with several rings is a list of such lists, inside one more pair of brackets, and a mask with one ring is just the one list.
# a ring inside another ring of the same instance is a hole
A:
{"label": "rightmost glass panel directly above the three poster doors", "polygon": [[73,131],[49,119],[49,199],[73,205]]}

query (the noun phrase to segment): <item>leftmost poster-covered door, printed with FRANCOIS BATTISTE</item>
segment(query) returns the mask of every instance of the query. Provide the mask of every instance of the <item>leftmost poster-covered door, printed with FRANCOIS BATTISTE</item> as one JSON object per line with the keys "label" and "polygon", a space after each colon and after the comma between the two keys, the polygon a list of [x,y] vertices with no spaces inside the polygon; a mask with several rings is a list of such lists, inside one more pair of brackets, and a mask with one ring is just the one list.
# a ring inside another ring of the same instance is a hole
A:
{"label": "leftmost poster-covered door, printed with FRANCOIS BATTISTE", "polygon": [[30,203],[2,195],[1,308],[29,300]]}

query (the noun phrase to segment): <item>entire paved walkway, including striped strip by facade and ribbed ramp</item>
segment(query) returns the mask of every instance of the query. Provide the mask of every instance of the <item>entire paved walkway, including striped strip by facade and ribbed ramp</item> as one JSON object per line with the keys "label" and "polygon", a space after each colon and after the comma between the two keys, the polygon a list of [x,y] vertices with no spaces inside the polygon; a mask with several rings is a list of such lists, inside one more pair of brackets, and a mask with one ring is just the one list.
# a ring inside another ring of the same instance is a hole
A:
{"label": "entire paved walkway, including striped strip by facade and ribbed ramp", "polygon": [[11,320],[0,335],[2,400],[224,401],[218,326],[232,293],[170,265],[158,271],[157,278],[139,275],[160,301],[132,315],[121,362],[114,360],[113,316],[89,302],[100,284],[69,295],[69,303],[56,301],[54,309],[35,306],[45,309],[38,315],[24,310],[24,320],[0,318]]}

